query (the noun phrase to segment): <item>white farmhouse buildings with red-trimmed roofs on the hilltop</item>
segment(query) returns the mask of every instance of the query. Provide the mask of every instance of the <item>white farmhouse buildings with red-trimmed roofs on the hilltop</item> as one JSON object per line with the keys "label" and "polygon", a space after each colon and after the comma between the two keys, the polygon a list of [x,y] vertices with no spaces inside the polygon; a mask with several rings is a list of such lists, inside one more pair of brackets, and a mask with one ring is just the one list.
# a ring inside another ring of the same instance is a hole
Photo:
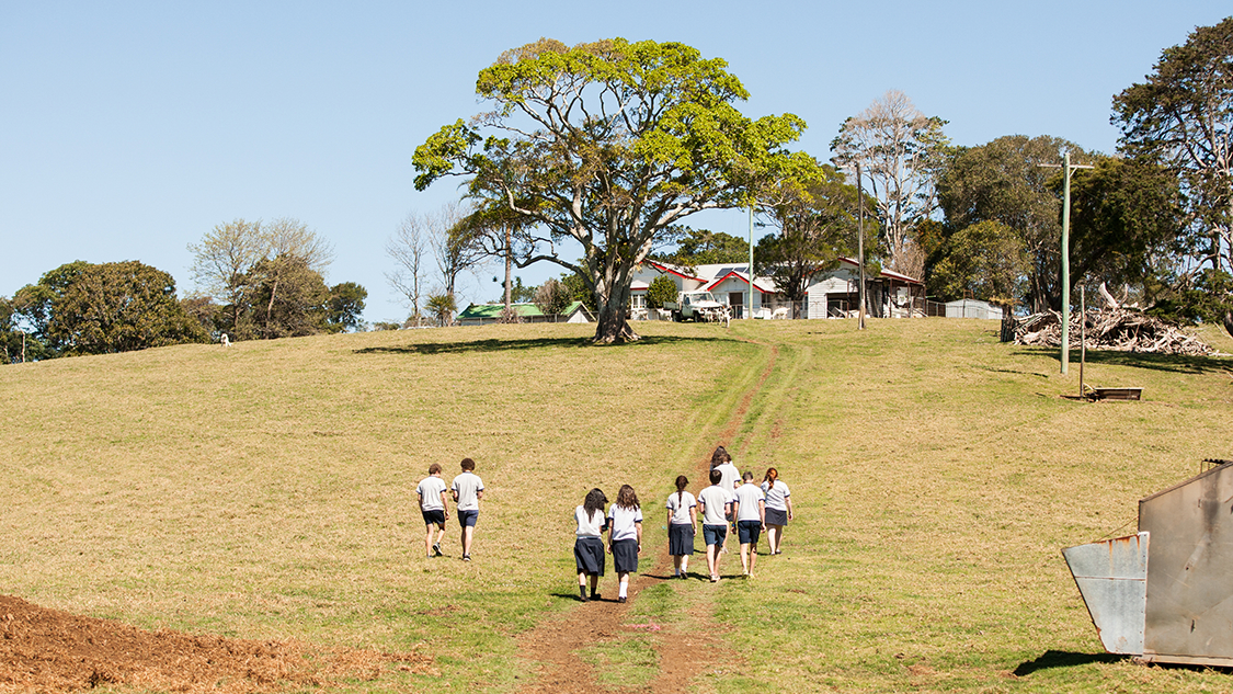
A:
{"label": "white farmhouse buildings with red-trimmed roofs on the hilltop", "polygon": [[[646,312],[646,288],[658,276],[670,277],[677,291],[709,291],[720,303],[731,307],[732,317],[745,316],[748,304],[748,264],[718,264],[682,267],[653,260],[644,261],[634,272],[633,314]],[[841,258],[838,267],[820,270],[809,280],[808,301],[792,306],[771,277],[753,277],[755,318],[843,318],[857,308],[859,266]],[[925,316],[925,285],[920,280],[883,270],[866,276],[869,316],[909,318]]]}

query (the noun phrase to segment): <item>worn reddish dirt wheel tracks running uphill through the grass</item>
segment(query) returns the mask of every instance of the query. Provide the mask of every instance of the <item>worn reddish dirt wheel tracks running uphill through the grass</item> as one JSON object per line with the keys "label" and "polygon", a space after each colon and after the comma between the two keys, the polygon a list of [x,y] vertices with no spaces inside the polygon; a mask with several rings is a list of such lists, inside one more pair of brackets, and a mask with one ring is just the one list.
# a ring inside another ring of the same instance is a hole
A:
{"label": "worn reddish dirt wheel tracks running uphill through the grass", "polygon": [[[723,398],[716,404],[716,412],[710,417],[710,423],[700,428],[699,435],[689,450],[702,449],[708,440],[710,440],[708,451],[716,445],[731,445],[734,436],[745,423],[755,398],[763,391],[767,380],[776,369],[779,356],[777,345],[747,338],[742,338],[742,341],[766,348],[763,353],[764,365],[760,371],[755,362],[742,372],[737,388],[729,391],[737,393],[736,397]],[[735,402],[735,404],[730,406],[729,415],[723,419],[721,412],[729,402]],[[743,445],[747,445],[747,441]],[[687,475],[700,478],[695,476],[705,475],[709,470],[710,455],[708,452],[704,457],[694,461]],[[725,558],[731,562],[734,556],[729,553]],[[695,562],[698,561],[705,566],[705,556],[695,555],[690,561],[695,574],[698,566]],[[623,635],[636,631],[624,625],[629,609],[636,605],[642,589],[672,581],[665,578],[670,576],[667,572],[671,567],[672,557],[668,555],[666,544],[661,542],[653,556],[653,567],[630,577],[629,598],[625,604],[618,603],[615,595],[605,595],[599,602],[580,603],[570,609],[563,618],[554,615],[520,635],[518,637],[520,657],[536,663],[538,667],[533,668],[535,672],[534,682],[524,684],[519,692],[522,694],[549,692],[593,694],[597,689],[602,689],[594,668],[582,658],[581,651],[615,641]],[[689,683],[704,668],[713,667],[715,663],[724,663],[724,667],[739,667],[740,656],[720,637],[725,627],[718,624],[713,616],[715,592],[700,589],[692,590],[692,593],[686,598],[688,604],[683,605],[686,619],[663,625],[651,639],[658,663],[655,679],[647,687],[633,690],[679,693],[688,689]]]}

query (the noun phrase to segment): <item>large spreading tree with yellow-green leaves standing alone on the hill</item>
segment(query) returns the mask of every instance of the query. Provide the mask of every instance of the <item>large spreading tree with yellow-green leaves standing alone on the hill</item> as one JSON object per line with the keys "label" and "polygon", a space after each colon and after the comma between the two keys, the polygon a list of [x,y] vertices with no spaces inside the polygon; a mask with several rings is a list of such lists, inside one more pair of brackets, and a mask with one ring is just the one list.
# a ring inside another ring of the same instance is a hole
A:
{"label": "large spreading tree with yellow-green leaves standing alone on the hill", "polygon": [[[804,121],[745,117],[735,104],[748,92],[726,67],[682,43],[623,38],[507,51],[476,81],[492,111],[416,149],[416,187],[466,179],[471,197],[535,231],[519,267],[551,261],[582,277],[596,341],[637,339],[630,284],[656,243],[690,214],[748,205],[809,159],[785,149]],[[560,255],[563,239],[581,259]]]}

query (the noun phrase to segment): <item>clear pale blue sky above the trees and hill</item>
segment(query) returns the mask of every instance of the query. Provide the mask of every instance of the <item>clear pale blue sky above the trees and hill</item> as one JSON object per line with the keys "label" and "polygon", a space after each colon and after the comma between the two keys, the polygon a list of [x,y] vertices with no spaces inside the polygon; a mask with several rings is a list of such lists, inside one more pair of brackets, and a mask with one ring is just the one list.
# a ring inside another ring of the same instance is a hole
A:
{"label": "clear pale blue sky above the trees and hill", "polygon": [[[0,0],[0,295],[64,263],[141,260],[192,290],[189,243],[295,217],[337,251],[327,281],[401,319],[383,245],[417,192],[411,155],[482,110],[475,78],[541,36],[681,41],[721,57],[747,116],[792,112],[827,159],[888,89],[957,144],[1051,134],[1113,152],[1111,97],[1160,51],[1233,14],[1163,2],[20,2]],[[692,224],[743,234],[740,212]],[[526,284],[560,274],[524,270]],[[496,298],[493,266],[464,301]]]}

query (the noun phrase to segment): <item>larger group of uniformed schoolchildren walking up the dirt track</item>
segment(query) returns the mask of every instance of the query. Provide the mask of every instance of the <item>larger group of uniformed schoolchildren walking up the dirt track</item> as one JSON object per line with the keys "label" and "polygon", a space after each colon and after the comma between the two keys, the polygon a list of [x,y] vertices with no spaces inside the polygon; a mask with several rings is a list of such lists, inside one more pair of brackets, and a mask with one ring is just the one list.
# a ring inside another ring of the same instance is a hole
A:
{"label": "larger group of uniformed schoolchildren walking up the dirt track", "polygon": [[[710,466],[710,486],[697,498],[686,492],[689,480],[684,475],[677,477],[677,491],[668,496],[668,553],[672,555],[673,577],[687,577],[699,509],[710,582],[720,578],[719,557],[726,552],[730,525],[741,544],[743,574],[751,577],[763,530],[771,542],[771,553],[782,552],[783,528],[792,519],[792,492],[779,481],[774,467],[767,470],[761,486],[753,482],[752,472],[742,476],[724,446],[715,449]],[[637,571],[637,556],[642,551],[642,510],[634,488],[623,484],[616,502],[605,515],[608,497],[600,489],[591,489],[582,505],[573,510],[578,524],[573,557],[578,567],[578,598],[584,603],[599,598],[599,577],[604,574],[605,565],[603,533],[609,534],[607,551],[613,556],[619,581],[618,602],[624,603],[629,595],[629,574]]]}

